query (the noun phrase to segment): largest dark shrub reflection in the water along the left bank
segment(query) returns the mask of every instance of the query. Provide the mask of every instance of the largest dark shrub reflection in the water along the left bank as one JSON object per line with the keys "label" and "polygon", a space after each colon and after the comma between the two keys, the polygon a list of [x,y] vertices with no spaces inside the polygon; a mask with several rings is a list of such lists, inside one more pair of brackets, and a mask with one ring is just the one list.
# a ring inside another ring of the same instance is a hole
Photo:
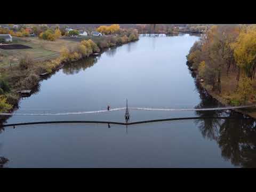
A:
{"label": "largest dark shrub reflection in the water along the left bank", "polygon": [[65,66],[63,66],[62,71],[66,75],[77,74],[79,71],[81,71],[81,69],[85,70],[92,67],[97,61],[98,57],[90,56],[77,62],[67,63]]}

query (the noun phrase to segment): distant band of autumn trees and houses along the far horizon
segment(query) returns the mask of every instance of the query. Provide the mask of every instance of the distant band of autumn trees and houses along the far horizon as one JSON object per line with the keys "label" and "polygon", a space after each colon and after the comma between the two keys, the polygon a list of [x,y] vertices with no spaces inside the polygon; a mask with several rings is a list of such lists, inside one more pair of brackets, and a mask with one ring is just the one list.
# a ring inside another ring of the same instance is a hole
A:
{"label": "distant band of autumn trees and houses along the far horizon", "polygon": [[[29,37],[31,35],[43,39],[55,41],[60,36],[74,36],[79,35],[80,31],[86,31],[91,34],[92,31],[99,31],[102,34],[122,34],[123,31],[129,29],[137,29],[139,34],[146,33],[202,33],[209,29],[212,24],[122,24],[120,27],[114,25],[96,25],[96,24],[8,24],[1,26],[0,34],[10,34],[13,37]],[[73,29],[73,30],[67,30]]]}

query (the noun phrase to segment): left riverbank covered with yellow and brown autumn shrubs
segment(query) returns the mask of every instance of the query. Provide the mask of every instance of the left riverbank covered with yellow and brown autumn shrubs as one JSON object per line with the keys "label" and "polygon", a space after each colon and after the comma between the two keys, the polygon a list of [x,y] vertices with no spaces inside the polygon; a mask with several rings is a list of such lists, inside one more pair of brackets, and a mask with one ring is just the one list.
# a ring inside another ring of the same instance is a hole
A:
{"label": "left riverbank covered with yellow and brown autumn shrubs", "polygon": [[[7,103],[12,105],[11,108],[0,108],[3,111],[11,113],[18,107],[21,99],[21,90],[33,90],[38,86],[39,82],[44,77],[41,74],[47,73],[51,75],[55,71],[62,68],[67,63],[73,63],[85,59],[91,55],[98,55],[103,53],[108,47],[121,46],[126,43],[137,41],[139,37],[137,34],[131,34],[129,37],[125,36],[109,36],[101,38],[97,44],[91,39],[82,41],[81,43],[74,42],[73,47],[62,47],[60,56],[56,59],[50,59],[44,62],[35,62],[33,59],[25,56],[21,59],[19,65],[12,68],[1,68],[1,81],[8,86],[1,95],[7,99]],[[3,84],[3,83],[1,83]],[[31,92],[33,93],[33,92]]]}

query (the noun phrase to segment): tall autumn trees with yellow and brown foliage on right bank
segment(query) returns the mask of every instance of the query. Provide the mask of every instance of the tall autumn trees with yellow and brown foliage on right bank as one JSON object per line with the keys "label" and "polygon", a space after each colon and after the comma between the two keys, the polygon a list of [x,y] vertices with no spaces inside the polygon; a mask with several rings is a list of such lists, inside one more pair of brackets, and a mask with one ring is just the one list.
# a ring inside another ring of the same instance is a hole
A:
{"label": "tall autumn trees with yellow and brown foliage on right bank", "polygon": [[[187,64],[221,103],[256,103],[256,25],[211,26],[191,47]],[[256,118],[253,108],[239,111]]]}

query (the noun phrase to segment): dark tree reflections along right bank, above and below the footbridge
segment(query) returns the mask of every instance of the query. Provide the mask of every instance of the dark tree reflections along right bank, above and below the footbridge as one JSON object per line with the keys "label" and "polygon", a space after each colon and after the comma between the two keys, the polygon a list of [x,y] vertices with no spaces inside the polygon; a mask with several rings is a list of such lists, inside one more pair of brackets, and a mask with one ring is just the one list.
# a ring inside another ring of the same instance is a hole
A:
{"label": "dark tree reflections along right bank, above and below the footbridge", "polygon": [[[221,107],[199,83],[195,82],[201,103],[196,108]],[[215,140],[221,155],[235,166],[256,167],[256,120],[235,111],[195,111],[199,117],[230,119],[198,119],[195,121],[204,138]]]}

